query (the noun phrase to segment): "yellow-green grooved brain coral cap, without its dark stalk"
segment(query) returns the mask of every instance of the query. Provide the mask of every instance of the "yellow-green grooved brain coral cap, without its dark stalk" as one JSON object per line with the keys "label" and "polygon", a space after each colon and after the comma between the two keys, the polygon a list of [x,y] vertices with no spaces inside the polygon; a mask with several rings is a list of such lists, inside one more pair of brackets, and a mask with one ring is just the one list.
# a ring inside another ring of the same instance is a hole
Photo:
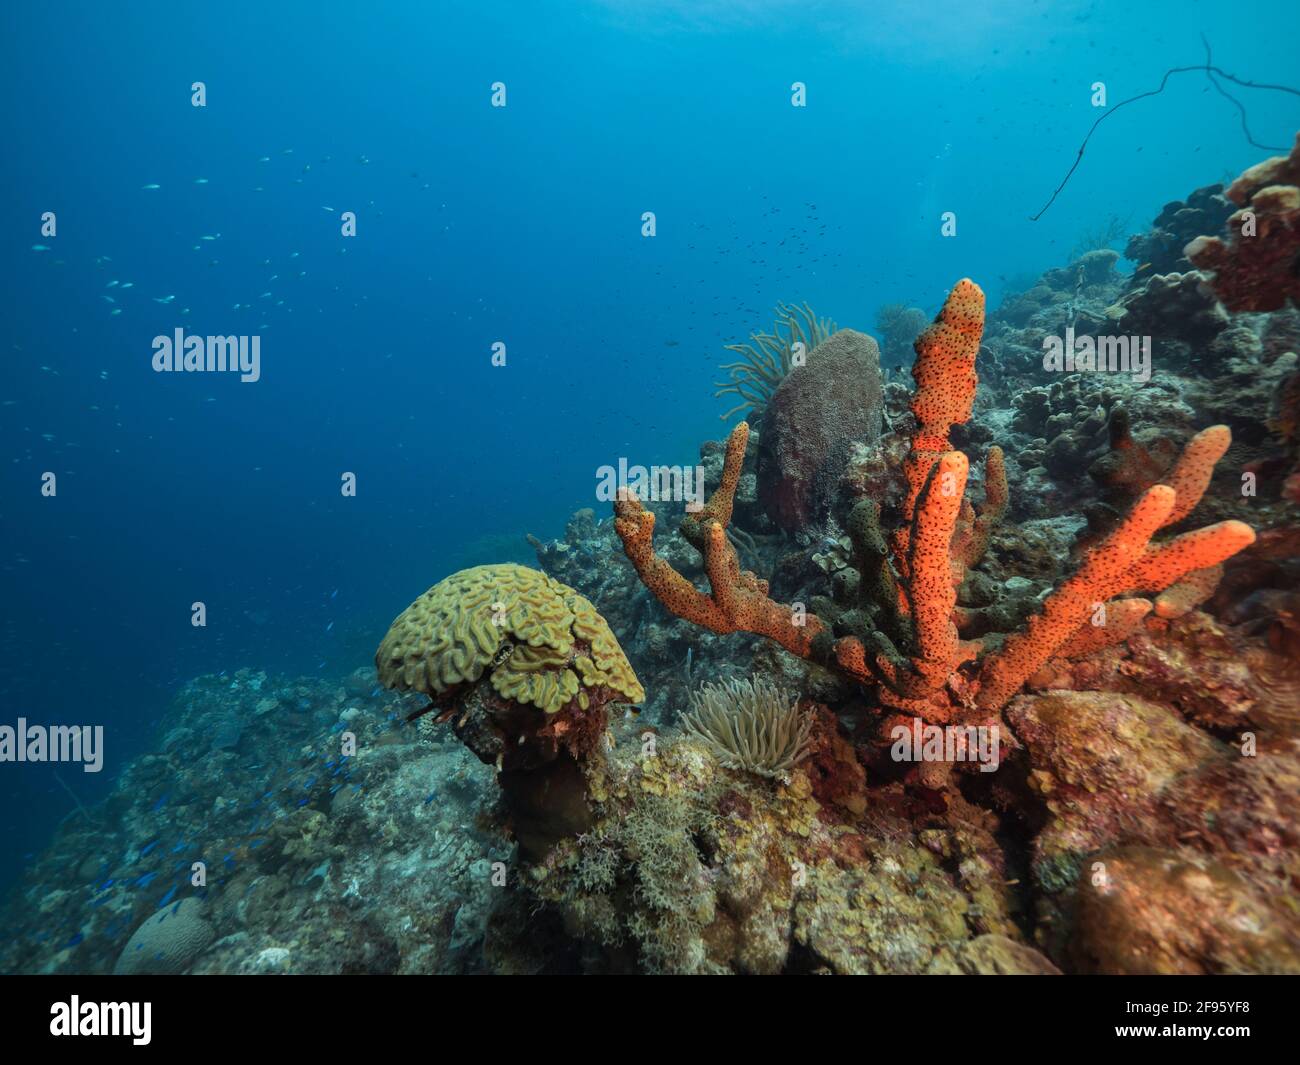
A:
{"label": "yellow-green grooved brain coral cap, without its dark stalk", "polygon": [[474,566],[438,581],[393,622],[374,664],[385,687],[433,697],[486,672],[499,696],[547,714],[575,698],[585,710],[602,687],[645,698],[595,607],[526,566]]}

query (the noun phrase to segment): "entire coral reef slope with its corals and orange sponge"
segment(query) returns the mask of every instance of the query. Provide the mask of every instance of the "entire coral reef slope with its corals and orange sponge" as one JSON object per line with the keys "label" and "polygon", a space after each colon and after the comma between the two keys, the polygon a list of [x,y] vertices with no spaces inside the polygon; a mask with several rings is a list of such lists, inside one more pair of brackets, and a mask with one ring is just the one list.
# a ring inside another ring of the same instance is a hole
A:
{"label": "entire coral reef slope with its corals and orange sponge", "polygon": [[[1300,971],[1300,313],[1179,257],[1231,209],[1170,204],[1132,274],[954,286],[914,389],[810,401],[879,416],[815,476],[768,464],[800,312],[697,512],[580,510],[377,671],[183,685],[5,900],[0,969]],[[1067,328],[1149,334],[1149,380],[1049,376]]]}

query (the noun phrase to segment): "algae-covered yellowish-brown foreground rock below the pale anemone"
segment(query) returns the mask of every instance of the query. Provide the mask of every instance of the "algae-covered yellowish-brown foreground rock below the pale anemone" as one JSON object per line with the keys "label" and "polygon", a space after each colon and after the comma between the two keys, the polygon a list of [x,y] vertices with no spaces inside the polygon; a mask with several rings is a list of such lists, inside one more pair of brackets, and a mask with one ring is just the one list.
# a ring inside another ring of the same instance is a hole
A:
{"label": "algae-covered yellowish-brown foreground rock below the pale anemone", "polygon": [[[814,722],[829,749],[833,717]],[[962,944],[1019,935],[997,844],[962,804],[918,836],[897,785],[855,811],[819,798],[812,766],[781,783],[651,736],[602,765],[592,828],[530,880],[590,971],[958,971]]]}

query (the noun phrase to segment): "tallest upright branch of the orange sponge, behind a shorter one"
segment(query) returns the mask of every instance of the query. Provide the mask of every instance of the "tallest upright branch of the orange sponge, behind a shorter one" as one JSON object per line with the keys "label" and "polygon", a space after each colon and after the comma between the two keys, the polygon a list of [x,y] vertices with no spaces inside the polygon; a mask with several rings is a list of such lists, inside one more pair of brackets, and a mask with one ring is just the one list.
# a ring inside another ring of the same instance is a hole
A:
{"label": "tallest upright branch of the orange sponge, behind a shorter one", "polygon": [[914,348],[916,362],[911,376],[916,391],[911,412],[916,429],[911,450],[904,459],[907,495],[904,499],[904,523],[894,532],[893,549],[898,566],[906,573],[907,540],[915,515],[916,499],[931,468],[952,450],[948,434],[953,425],[970,421],[975,404],[975,356],[984,335],[984,291],[967,277],[958,281],[944,300],[939,317],[919,337]]}

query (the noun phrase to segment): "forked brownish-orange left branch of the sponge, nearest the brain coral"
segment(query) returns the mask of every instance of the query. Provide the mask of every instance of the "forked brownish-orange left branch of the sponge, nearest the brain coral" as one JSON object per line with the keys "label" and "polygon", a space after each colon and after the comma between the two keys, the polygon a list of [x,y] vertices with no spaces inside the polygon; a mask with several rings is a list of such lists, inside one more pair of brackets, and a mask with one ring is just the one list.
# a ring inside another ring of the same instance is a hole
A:
{"label": "forked brownish-orange left branch of the sponge, nearest the brain coral", "polygon": [[749,425],[741,421],[727,441],[727,456],[718,490],[703,508],[682,521],[682,536],[703,557],[711,594],[706,596],[654,551],[654,514],[625,489],[614,502],[614,528],[642,584],[672,614],[716,633],[754,632],[775,640],[792,654],[807,658],[812,640],[823,631],[815,614],[798,614],[772,601],[767,581],[741,572],[736,550],[727,540],[736,485]]}

